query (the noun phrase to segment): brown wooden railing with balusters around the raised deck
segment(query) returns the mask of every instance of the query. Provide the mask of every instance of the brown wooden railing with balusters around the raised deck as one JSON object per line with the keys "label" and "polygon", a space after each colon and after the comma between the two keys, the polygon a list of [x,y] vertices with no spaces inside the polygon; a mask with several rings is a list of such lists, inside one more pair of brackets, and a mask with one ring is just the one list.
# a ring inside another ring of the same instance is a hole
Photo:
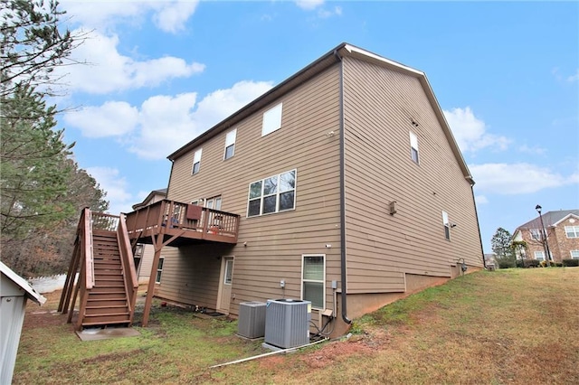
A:
{"label": "brown wooden railing with balusters around the raised deck", "polygon": [[[237,241],[240,218],[238,214],[192,206],[188,203],[162,200],[129,212],[126,214],[129,238],[147,236],[149,230],[159,233],[167,232],[167,229],[181,229],[194,231],[188,234],[185,232],[185,237],[189,235],[191,238],[212,239],[213,235],[218,235]],[[196,214],[192,211],[196,211]]]}

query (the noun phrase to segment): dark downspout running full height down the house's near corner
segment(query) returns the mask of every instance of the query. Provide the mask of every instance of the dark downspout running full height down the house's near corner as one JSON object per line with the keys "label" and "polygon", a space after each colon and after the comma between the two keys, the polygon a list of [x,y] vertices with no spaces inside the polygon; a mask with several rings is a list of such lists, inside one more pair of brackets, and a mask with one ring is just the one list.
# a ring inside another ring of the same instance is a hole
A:
{"label": "dark downspout running full height down the house's near corner", "polygon": [[342,320],[346,324],[352,324],[352,320],[347,317],[346,301],[346,135],[344,133],[344,61],[337,52],[334,51],[337,60],[340,61],[340,273],[342,293]]}

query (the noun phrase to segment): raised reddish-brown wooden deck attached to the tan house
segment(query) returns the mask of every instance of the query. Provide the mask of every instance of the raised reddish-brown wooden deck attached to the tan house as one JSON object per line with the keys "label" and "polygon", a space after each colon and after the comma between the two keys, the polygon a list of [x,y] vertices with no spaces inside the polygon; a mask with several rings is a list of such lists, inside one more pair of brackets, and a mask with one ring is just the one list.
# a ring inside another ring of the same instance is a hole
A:
{"label": "raised reddish-brown wooden deck attached to the tan house", "polygon": [[238,214],[163,200],[127,215],[128,238],[154,244],[163,237],[166,246],[200,242],[237,243]]}

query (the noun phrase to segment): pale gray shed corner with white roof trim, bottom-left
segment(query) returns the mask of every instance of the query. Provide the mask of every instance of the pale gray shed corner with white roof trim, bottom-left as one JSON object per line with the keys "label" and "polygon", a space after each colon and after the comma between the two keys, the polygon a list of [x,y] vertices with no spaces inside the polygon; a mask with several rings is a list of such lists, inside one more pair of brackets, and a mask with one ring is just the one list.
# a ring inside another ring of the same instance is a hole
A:
{"label": "pale gray shed corner with white roof trim, bottom-left", "polygon": [[0,261],[0,384],[12,383],[16,352],[24,324],[26,301],[43,305],[46,298]]}

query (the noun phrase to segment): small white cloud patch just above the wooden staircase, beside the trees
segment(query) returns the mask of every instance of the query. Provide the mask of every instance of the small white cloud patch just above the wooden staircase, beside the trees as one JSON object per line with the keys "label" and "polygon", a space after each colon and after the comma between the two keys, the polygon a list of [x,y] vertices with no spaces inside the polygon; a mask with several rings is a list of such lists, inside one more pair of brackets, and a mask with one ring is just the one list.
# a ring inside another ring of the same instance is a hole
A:
{"label": "small white cloud patch just above the wooden staircase, beside the trees", "polygon": [[110,202],[109,212],[132,211],[131,205],[134,200],[128,191],[128,183],[125,178],[119,177],[119,170],[109,167],[89,167],[89,173],[100,184],[100,188],[107,192],[105,198]]}

